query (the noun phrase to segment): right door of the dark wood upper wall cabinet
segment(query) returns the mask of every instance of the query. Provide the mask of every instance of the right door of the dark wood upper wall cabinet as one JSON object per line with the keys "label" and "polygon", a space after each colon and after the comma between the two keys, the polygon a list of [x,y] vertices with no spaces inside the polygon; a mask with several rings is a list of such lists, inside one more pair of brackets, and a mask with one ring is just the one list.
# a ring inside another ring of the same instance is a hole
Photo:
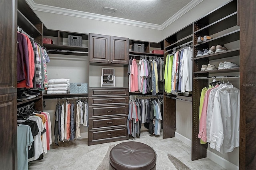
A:
{"label": "right door of the dark wood upper wall cabinet", "polygon": [[110,36],[110,63],[129,63],[129,38]]}

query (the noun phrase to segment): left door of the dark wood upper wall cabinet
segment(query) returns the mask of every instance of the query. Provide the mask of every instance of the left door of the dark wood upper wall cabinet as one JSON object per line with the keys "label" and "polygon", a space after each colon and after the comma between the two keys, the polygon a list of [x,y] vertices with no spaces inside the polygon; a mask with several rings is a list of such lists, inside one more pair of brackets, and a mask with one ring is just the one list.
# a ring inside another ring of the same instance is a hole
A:
{"label": "left door of the dark wood upper wall cabinet", "polygon": [[89,34],[89,61],[97,63],[110,62],[110,36]]}

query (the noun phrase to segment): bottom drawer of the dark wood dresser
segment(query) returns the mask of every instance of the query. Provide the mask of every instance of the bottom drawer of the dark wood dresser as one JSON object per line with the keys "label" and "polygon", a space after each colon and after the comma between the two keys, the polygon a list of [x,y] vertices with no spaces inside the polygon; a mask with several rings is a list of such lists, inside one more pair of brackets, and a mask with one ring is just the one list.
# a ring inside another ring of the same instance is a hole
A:
{"label": "bottom drawer of the dark wood dresser", "polygon": [[119,138],[128,136],[127,127],[116,128],[112,130],[102,130],[102,131],[90,131],[89,139],[92,139],[92,142],[96,140],[107,140],[111,138]]}

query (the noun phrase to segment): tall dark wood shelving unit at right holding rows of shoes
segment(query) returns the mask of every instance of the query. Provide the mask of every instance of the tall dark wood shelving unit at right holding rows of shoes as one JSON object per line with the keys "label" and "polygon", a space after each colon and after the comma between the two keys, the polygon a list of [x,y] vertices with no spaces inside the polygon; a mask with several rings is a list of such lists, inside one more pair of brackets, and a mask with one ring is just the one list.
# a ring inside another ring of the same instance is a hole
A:
{"label": "tall dark wood shelving unit at right holding rows of shoes", "polygon": [[[194,69],[193,69],[193,113],[192,113],[192,160],[206,157],[207,144],[200,144],[199,132],[199,105],[200,95],[204,87],[208,86],[207,77],[211,73],[234,73],[240,74],[240,68],[222,69],[214,71],[200,71],[202,64],[207,65],[217,59],[228,59],[229,57],[239,57],[240,48],[230,49],[221,53],[196,57],[198,50],[210,49],[212,45],[225,45],[226,43],[240,40],[240,28],[237,24],[236,0],[233,0],[206,16],[194,22]],[[198,36],[211,36],[212,39],[197,44]],[[216,36],[217,35],[217,36]]]}

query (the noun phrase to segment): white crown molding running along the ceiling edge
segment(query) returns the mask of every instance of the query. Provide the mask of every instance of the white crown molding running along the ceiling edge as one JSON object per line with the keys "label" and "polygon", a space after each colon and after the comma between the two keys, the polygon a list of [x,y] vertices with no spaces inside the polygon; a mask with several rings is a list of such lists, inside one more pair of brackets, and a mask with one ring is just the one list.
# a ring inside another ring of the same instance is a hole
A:
{"label": "white crown molding running along the ceiling edge", "polygon": [[26,0],[28,5],[34,11],[49,12],[53,14],[61,14],[61,15],[74,16],[79,18],[86,18],[86,19],[99,20],[99,21],[105,21],[105,22],[113,22],[117,24],[125,24],[125,25],[142,27],[142,28],[150,28],[154,30],[163,30],[164,28],[172,24],[172,22],[176,21],[178,18],[180,18],[182,15],[184,15],[186,12],[194,8],[196,5],[198,5],[202,1],[203,0],[192,0],[190,3],[184,6],[184,8],[182,8],[180,11],[174,14],[174,16],[172,16],[166,22],[164,22],[164,24],[158,25],[158,24],[151,24],[151,23],[140,22],[135,20],[117,18],[112,16],[104,16],[100,14],[92,14],[89,12],[82,12],[82,11],[70,10],[70,9],[59,8],[54,6],[36,4],[33,0]]}

